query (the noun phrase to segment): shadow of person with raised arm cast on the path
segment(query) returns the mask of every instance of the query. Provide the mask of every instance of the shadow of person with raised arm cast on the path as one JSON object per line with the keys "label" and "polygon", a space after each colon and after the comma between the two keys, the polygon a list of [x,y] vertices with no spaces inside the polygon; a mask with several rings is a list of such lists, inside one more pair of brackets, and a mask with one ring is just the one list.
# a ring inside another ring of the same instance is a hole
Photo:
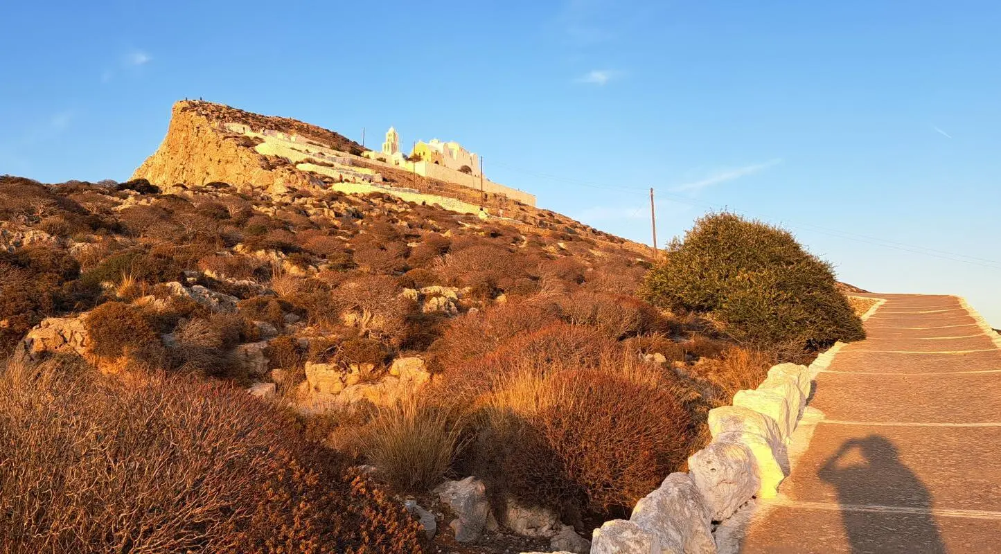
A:
{"label": "shadow of person with raised arm cast on the path", "polygon": [[[897,448],[886,437],[869,435],[845,441],[817,475],[837,490],[854,554],[946,551],[929,512],[931,494],[901,463]],[[912,508],[916,513],[874,508],[878,506]]]}

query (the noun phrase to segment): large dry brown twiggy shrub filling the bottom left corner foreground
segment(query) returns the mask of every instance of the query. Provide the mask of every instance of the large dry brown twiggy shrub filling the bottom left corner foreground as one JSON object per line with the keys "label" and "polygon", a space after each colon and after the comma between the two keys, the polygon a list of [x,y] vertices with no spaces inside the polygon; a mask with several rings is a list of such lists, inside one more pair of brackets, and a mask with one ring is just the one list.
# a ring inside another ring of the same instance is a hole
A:
{"label": "large dry brown twiggy shrub filling the bottom left corner foreground", "polygon": [[241,389],[58,359],[0,372],[0,551],[423,551],[398,503]]}

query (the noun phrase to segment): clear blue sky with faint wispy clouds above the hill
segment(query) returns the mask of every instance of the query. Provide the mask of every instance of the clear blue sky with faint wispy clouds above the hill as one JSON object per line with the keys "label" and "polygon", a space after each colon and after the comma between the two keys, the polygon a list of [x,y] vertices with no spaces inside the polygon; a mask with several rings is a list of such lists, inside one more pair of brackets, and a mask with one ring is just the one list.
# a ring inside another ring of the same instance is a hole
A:
{"label": "clear blue sky with faint wispy clouds above the hill", "polygon": [[47,2],[4,7],[0,173],[128,178],[189,97],[457,140],[639,241],[707,210],[1001,327],[1001,4]]}

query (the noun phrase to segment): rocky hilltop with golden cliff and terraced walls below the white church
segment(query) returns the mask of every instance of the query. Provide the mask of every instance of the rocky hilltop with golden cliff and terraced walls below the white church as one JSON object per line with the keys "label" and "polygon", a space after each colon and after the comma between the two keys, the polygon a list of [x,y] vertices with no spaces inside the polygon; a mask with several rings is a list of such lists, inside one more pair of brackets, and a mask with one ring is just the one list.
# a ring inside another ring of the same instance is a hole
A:
{"label": "rocky hilltop with golden cliff and terraced walls below the white church", "polygon": [[[360,156],[361,145],[294,119],[264,116],[211,102],[176,102],[160,147],[132,174],[162,188],[228,183],[241,191],[380,192],[459,213],[480,212],[542,228],[584,232],[617,243],[613,235],[503,193],[422,177]],[[484,214],[484,215],[485,215]],[[636,249],[639,245],[630,244]],[[637,249],[647,253],[646,248]]]}

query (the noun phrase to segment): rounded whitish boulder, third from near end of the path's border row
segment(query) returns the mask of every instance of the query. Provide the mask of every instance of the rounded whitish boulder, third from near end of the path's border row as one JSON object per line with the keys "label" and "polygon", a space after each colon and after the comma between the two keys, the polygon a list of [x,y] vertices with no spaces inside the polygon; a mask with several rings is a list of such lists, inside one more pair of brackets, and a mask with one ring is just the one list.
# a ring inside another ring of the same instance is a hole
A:
{"label": "rounded whitish boulder, third from near end of the path's border row", "polygon": [[689,457],[689,473],[714,521],[733,515],[761,485],[754,456],[737,442],[713,441]]}

